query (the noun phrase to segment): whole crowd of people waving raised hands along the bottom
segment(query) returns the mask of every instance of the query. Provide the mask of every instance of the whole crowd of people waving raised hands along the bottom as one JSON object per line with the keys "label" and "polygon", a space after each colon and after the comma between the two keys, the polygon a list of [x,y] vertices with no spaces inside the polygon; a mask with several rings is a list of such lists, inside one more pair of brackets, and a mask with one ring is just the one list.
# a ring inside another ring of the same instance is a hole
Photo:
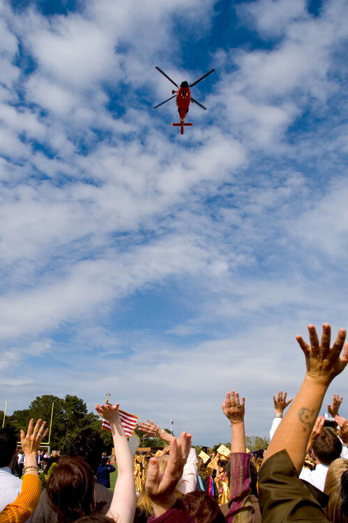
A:
{"label": "whole crowd of people waving raised hands along the bottom", "polygon": [[[333,395],[326,416],[319,416],[333,379],[348,363],[346,331],[331,347],[331,328],[319,340],[308,326],[309,344],[298,336],[305,355],[305,377],[296,397],[273,396],[275,416],[264,455],[245,446],[245,398],[231,391],[222,411],[232,427],[231,449],[197,456],[191,434],[179,438],[146,420],[139,430],[167,442],[156,455],[133,456],[119,417],[119,405],[96,405],[109,422],[115,469],[103,453],[95,430],[85,429],[71,442],[68,455],[40,453],[45,422],[31,420],[21,431],[22,452],[10,429],[0,430],[0,523],[348,523],[348,422],[340,416],[342,397]],[[285,409],[287,409],[285,414]],[[43,459],[40,459],[42,457]],[[14,462],[17,473],[11,471]],[[41,492],[39,474],[50,465]],[[53,463],[53,465],[52,465]]]}

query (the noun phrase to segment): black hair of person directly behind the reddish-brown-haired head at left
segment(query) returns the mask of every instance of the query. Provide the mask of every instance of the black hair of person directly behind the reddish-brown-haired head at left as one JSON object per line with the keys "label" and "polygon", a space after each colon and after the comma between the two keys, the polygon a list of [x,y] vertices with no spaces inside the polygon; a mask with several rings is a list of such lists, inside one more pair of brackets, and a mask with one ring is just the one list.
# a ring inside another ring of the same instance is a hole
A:
{"label": "black hair of person directly behind the reddish-brown-haired head at left", "polygon": [[84,429],[77,434],[70,444],[69,455],[82,457],[96,474],[103,453],[103,439],[100,434],[91,428]]}

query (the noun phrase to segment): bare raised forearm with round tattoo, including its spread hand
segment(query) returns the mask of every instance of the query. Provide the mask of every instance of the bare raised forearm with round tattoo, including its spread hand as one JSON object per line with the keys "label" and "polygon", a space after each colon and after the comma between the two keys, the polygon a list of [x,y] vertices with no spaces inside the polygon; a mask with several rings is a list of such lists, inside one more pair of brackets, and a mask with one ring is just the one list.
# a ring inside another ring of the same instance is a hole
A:
{"label": "bare raised forearm with round tattoo, including its spread hand", "polygon": [[[330,347],[331,327],[329,324],[323,325],[320,342],[315,326],[309,325],[308,332],[310,344],[307,344],[301,336],[296,336],[296,340],[305,354],[306,372],[303,384],[290,405],[287,415],[275,432],[264,457],[264,462],[266,462],[279,450],[286,449],[298,473],[303,466],[308,440],[327,388],[348,363],[345,329],[340,329],[332,348]],[[344,350],[340,356],[343,347]]]}

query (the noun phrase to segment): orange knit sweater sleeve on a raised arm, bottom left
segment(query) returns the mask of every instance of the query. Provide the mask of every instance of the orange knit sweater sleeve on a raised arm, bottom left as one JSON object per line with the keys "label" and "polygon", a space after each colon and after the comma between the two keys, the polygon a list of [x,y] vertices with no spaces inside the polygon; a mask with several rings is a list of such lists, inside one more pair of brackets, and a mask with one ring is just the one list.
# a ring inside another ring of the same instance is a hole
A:
{"label": "orange knit sweater sleeve on a raised arm, bottom left", "polygon": [[0,523],[24,523],[38,506],[41,481],[36,474],[24,474],[22,492],[0,513]]}

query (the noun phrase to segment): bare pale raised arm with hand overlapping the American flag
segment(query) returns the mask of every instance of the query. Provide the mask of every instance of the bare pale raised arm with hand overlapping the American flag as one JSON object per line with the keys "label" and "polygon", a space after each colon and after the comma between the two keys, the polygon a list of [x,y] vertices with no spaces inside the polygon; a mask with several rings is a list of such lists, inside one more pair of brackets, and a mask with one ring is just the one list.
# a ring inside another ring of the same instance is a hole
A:
{"label": "bare pale raised arm with hand overlapping the American flag", "polygon": [[121,425],[119,404],[97,404],[96,411],[110,424],[117,461],[117,480],[107,517],[111,517],[117,523],[133,523],[135,513],[133,455]]}

